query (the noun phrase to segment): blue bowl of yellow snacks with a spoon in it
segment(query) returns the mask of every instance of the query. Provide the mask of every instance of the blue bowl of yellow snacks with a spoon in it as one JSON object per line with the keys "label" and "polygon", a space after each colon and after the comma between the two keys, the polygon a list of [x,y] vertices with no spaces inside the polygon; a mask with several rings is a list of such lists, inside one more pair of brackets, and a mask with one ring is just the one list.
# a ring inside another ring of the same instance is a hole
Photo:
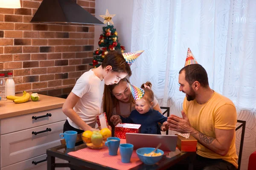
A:
{"label": "blue bowl of yellow snacks with a spoon in it", "polygon": [[155,153],[161,153],[161,156],[144,156],[144,153],[151,153],[155,148],[154,147],[142,147],[136,150],[137,156],[140,160],[147,165],[156,164],[163,157],[163,150],[157,149]]}

